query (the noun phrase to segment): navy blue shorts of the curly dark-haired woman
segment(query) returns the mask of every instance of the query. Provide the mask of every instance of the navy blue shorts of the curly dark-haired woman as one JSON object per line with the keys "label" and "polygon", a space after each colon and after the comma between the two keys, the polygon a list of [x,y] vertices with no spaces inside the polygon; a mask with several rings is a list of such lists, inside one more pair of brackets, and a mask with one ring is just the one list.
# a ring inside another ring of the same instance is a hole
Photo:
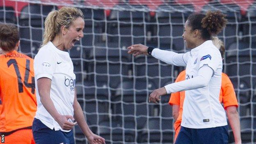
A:
{"label": "navy blue shorts of the curly dark-haired woman", "polygon": [[175,144],[228,144],[228,126],[185,128],[181,126]]}

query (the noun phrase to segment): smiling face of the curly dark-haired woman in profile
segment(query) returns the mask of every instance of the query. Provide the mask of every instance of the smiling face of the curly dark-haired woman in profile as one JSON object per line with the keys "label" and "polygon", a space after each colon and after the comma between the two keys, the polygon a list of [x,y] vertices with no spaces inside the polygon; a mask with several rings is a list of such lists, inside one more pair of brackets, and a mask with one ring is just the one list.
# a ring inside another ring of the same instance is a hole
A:
{"label": "smiling face of the curly dark-haired woman in profile", "polygon": [[187,48],[195,48],[195,40],[194,39],[194,31],[192,28],[188,25],[189,21],[186,21],[185,27],[184,27],[184,33],[182,35],[185,45]]}

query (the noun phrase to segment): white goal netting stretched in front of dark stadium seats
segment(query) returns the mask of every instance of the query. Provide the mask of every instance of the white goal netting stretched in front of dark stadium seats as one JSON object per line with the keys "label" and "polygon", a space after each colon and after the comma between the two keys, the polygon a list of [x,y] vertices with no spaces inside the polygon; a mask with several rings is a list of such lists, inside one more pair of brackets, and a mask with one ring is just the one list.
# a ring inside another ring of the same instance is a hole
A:
{"label": "white goal netting stretched in front of dark stadium seats", "polygon": [[[256,5],[253,0],[2,0],[0,23],[14,23],[21,33],[19,51],[34,57],[42,42],[47,14],[62,6],[80,8],[85,35],[70,55],[78,101],[94,133],[107,143],[172,143],[174,130],[169,96],[148,103],[153,89],[174,82],[183,67],[152,57],[132,57],[135,43],[187,51],[183,27],[192,12],[220,10],[229,23],[224,41],[224,72],[237,94],[243,143],[256,142]],[[248,12],[247,12],[248,11]],[[229,130],[231,132],[231,130]],[[85,137],[76,126],[76,143]],[[232,133],[230,142],[232,140]]]}

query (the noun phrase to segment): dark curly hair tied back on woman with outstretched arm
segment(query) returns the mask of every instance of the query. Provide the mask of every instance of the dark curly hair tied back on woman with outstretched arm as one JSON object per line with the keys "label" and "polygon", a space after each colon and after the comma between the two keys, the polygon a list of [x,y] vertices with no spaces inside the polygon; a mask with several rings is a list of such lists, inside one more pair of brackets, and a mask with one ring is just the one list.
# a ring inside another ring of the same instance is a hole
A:
{"label": "dark curly hair tied back on woman with outstretched arm", "polygon": [[[205,40],[210,40],[212,36],[217,35],[226,27],[226,15],[220,11],[207,11],[206,14],[194,13],[187,18],[188,25],[192,30],[200,30],[201,37]],[[199,21],[201,23],[199,23]]]}

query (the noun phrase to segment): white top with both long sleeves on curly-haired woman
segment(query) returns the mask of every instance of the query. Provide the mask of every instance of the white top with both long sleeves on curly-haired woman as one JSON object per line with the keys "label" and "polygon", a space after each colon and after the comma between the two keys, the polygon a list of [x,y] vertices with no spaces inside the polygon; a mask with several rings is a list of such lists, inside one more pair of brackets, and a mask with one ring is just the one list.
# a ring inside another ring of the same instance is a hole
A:
{"label": "white top with both long sleeves on curly-haired woman", "polygon": [[227,125],[224,108],[219,103],[222,57],[212,41],[205,41],[183,54],[155,48],[151,55],[168,64],[186,66],[184,81],[165,86],[168,94],[185,90],[181,126],[213,128]]}

